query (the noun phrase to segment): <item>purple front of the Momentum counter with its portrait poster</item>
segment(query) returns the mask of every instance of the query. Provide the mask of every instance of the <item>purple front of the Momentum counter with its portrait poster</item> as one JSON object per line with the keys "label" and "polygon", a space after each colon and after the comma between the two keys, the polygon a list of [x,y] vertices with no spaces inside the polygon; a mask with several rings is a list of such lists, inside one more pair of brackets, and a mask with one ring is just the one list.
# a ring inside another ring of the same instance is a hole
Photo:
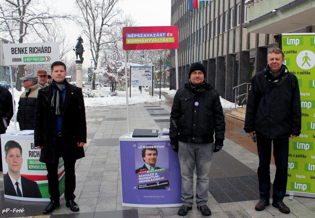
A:
{"label": "purple front of the Momentum counter with its portrait poster", "polygon": [[130,141],[120,141],[122,205],[181,206],[178,153],[172,150],[169,140],[165,140],[168,138],[158,138],[158,141],[128,139]]}

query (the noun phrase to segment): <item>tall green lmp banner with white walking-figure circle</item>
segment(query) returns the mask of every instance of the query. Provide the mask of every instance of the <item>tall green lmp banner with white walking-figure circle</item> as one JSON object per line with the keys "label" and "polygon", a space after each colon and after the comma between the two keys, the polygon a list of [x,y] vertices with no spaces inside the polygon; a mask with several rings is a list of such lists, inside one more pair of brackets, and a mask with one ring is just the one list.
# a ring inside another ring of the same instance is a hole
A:
{"label": "tall green lmp banner with white walking-figure circle", "polygon": [[289,140],[287,194],[315,197],[315,35],[286,33],[282,50],[289,72],[298,78],[302,129]]}

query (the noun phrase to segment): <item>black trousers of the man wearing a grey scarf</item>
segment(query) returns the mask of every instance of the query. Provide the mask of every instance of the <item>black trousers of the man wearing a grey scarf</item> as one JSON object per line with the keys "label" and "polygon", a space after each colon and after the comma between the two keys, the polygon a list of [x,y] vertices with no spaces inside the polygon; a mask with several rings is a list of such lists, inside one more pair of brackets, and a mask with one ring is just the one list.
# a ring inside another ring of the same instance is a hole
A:
{"label": "black trousers of the man wearing a grey scarf", "polygon": [[[62,145],[61,137],[57,138],[57,144]],[[59,143],[60,142],[60,143]],[[59,193],[59,180],[58,180],[58,164],[59,164],[59,157],[62,156],[62,146],[57,147],[58,152],[56,151],[56,157],[54,163],[46,163],[47,167],[47,179],[48,179],[48,192],[50,194],[50,200],[59,200],[60,193]],[[76,189],[76,175],[75,175],[75,163],[76,160],[64,160],[64,167],[65,167],[65,199],[66,200],[74,200],[76,197],[74,195],[74,190]]]}

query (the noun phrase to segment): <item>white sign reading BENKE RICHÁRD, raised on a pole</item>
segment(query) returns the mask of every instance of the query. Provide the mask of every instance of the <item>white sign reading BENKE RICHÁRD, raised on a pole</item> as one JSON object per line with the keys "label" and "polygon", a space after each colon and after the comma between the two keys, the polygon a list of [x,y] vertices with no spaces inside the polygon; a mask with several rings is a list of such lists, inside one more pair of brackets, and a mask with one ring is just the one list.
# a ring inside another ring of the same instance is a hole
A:
{"label": "white sign reading BENKE RICH\u00c1RD, raised on a pole", "polygon": [[5,65],[50,64],[59,61],[59,42],[3,44]]}

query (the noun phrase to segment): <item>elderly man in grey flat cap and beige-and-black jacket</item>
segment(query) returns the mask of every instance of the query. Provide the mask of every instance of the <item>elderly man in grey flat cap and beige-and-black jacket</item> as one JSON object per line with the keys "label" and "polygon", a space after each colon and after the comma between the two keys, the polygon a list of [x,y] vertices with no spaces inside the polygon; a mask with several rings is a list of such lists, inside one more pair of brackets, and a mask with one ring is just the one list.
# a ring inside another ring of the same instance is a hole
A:
{"label": "elderly man in grey flat cap and beige-and-black jacket", "polygon": [[24,83],[25,91],[21,94],[19,100],[18,112],[16,120],[19,122],[20,130],[34,129],[35,108],[39,86],[37,84],[37,76],[27,74],[20,78]]}

